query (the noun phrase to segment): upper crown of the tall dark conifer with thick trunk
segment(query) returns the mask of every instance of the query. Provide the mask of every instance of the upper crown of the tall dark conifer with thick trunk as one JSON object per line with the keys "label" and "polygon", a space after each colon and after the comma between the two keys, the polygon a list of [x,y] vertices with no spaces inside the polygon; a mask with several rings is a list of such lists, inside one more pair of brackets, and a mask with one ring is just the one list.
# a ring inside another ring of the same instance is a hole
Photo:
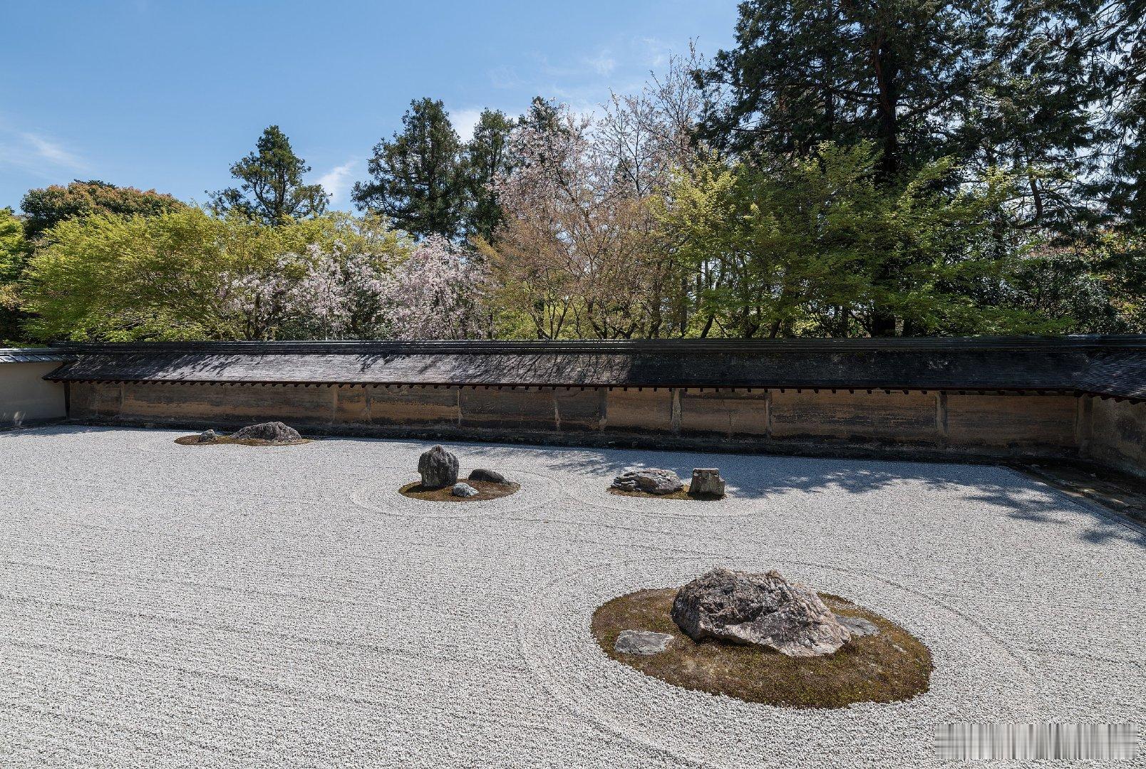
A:
{"label": "upper crown of the tall dark conifer with thick trunk", "polygon": [[989,0],[746,0],[737,47],[698,81],[702,135],[738,153],[807,157],[821,143],[871,141],[884,180],[949,154],[989,70]]}

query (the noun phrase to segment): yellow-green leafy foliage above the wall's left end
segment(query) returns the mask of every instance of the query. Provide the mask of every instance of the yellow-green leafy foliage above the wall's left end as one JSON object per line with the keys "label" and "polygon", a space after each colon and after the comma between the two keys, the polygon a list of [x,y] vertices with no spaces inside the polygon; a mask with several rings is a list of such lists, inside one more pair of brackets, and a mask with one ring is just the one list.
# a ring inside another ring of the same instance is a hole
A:
{"label": "yellow-green leafy foliage above the wall's left end", "polygon": [[97,215],[48,231],[24,272],[22,299],[38,340],[243,339],[236,276],[283,254],[342,240],[362,251],[392,237],[374,220],[322,217],[270,227],[186,208],[152,217]]}

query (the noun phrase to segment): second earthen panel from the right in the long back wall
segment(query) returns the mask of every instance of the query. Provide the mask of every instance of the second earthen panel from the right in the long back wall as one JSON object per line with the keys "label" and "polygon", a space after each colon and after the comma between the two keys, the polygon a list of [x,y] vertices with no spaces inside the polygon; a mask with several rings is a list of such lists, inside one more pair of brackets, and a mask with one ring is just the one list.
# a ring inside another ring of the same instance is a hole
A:
{"label": "second earthen panel from the right in the long back wall", "polygon": [[935,443],[935,393],[772,390],[774,438]]}

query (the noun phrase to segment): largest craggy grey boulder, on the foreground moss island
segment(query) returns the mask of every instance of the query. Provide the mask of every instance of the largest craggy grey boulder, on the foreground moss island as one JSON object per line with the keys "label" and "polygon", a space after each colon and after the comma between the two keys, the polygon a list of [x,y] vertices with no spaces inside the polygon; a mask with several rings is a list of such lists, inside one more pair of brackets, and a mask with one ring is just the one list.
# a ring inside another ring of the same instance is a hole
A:
{"label": "largest craggy grey boulder, on the foreground moss island", "polygon": [[788,657],[831,655],[851,637],[814,590],[777,571],[713,569],[677,592],[672,616],[693,641],[755,644]]}

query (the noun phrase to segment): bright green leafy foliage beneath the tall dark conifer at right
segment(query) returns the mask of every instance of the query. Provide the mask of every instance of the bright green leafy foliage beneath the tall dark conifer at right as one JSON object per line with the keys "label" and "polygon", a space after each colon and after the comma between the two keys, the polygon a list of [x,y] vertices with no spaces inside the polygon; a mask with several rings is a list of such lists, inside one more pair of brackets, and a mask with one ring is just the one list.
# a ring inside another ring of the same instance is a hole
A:
{"label": "bright green leafy foliage beneath the tall dark conifer at right", "polygon": [[806,160],[712,161],[680,177],[657,214],[698,276],[691,332],[872,334],[884,311],[912,334],[1049,327],[973,301],[1005,270],[981,245],[1005,179],[951,193],[953,166],[937,160],[893,188],[878,181],[878,162],[868,143],[822,144]]}

